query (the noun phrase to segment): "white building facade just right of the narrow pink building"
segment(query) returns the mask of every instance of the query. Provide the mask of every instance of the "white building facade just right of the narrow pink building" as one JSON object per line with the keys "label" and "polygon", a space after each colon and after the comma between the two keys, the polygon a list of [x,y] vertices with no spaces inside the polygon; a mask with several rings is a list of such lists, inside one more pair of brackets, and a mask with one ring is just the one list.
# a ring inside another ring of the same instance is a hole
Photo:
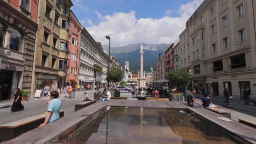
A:
{"label": "white building facade just right of the narrow pink building", "polygon": [[81,29],[78,81],[80,85],[106,85],[108,56],[89,32]]}

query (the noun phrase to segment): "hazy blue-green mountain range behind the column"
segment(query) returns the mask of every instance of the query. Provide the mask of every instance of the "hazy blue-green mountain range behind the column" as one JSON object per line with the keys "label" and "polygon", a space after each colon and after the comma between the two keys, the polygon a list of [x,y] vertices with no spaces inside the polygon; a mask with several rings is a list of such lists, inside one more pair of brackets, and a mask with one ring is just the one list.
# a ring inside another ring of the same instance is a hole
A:
{"label": "hazy blue-green mountain range behind the column", "polygon": [[[152,66],[154,71],[156,64],[158,62],[158,54],[164,53],[170,46],[170,44],[147,44],[147,43],[137,43],[129,44],[120,47],[111,47],[110,54],[115,56],[115,58],[120,62],[120,66],[124,66],[125,60],[128,59],[130,62],[130,71],[137,74],[140,69],[140,46],[143,45],[143,61],[144,61],[144,71],[149,72]],[[104,51],[108,52],[109,46],[102,45]]]}

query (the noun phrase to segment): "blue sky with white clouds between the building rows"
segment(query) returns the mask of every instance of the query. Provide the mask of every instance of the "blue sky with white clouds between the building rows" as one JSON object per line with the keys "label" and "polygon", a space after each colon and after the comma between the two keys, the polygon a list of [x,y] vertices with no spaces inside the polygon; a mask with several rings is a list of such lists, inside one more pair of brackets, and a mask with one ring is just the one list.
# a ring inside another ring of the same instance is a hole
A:
{"label": "blue sky with white clouds between the building rows", "polygon": [[71,10],[101,44],[171,44],[203,0],[72,0]]}

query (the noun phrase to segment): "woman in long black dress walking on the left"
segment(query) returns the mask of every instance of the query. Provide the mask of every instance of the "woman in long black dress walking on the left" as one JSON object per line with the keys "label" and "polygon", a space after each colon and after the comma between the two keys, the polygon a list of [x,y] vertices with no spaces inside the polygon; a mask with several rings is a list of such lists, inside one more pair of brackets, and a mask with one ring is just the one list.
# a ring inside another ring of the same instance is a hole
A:
{"label": "woman in long black dress walking on the left", "polygon": [[21,104],[22,94],[21,89],[17,88],[14,95],[13,105],[11,106],[11,112],[17,112],[24,110],[24,106]]}

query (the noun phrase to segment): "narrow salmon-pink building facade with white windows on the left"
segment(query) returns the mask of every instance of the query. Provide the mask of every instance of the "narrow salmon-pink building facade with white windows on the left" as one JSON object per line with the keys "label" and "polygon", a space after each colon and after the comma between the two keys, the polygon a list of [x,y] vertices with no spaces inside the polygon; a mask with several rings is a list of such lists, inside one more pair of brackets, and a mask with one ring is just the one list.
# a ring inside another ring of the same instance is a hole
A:
{"label": "narrow salmon-pink building facade with white windows on the left", "polygon": [[70,24],[66,84],[77,89],[81,24],[72,11],[70,12],[69,18]]}

